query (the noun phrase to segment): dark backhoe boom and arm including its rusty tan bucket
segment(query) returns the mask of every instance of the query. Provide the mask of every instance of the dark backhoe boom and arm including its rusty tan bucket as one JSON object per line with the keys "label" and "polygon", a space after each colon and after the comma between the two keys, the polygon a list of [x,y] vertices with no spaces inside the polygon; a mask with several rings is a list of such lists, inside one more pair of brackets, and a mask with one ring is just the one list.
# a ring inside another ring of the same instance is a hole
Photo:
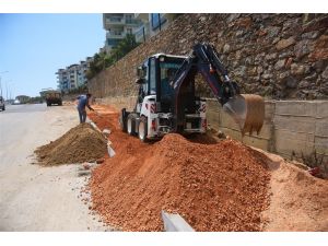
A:
{"label": "dark backhoe boom and arm including its rusty tan bucket", "polygon": [[265,103],[261,96],[241,94],[237,83],[230,80],[227,70],[219,59],[213,46],[197,44],[191,54],[183,62],[172,81],[174,87],[176,130],[184,122],[184,110],[190,84],[195,84],[195,77],[201,73],[211,91],[234,120],[242,133],[257,131],[259,133],[265,118]]}

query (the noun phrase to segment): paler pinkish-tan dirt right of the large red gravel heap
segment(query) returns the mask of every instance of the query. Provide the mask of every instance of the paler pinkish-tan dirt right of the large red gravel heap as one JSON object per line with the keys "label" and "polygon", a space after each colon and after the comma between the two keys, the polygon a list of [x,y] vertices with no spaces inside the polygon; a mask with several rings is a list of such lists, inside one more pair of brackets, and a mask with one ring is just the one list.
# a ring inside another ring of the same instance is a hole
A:
{"label": "paler pinkish-tan dirt right of the large red gravel heap", "polygon": [[328,231],[328,180],[263,152],[271,173],[270,206],[262,214],[262,230],[268,232]]}

